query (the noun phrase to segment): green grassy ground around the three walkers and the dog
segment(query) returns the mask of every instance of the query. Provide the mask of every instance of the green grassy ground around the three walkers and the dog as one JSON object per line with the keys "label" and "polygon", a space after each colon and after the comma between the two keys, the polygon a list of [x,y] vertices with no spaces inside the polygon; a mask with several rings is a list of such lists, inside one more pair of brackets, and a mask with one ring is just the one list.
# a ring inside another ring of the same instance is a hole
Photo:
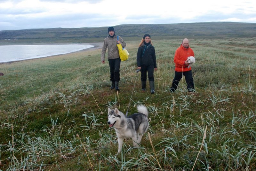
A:
{"label": "green grassy ground around the three walkers and the dog", "polygon": [[[192,170],[196,163],[194,170],[255,170],[255,41],[190,39],[194,95],[184,78],[168,90],[181,40],[152,40],[154,95],[148,84],[140,91],[139,41],[126,42],[130,57],[121,63],[118,94],[109,90],[100,49],[0,64],[0,169]],[[108,107],[135,113],[137,104],[148,108],[148,133],[139,148],[127,140],[115,155]]]}

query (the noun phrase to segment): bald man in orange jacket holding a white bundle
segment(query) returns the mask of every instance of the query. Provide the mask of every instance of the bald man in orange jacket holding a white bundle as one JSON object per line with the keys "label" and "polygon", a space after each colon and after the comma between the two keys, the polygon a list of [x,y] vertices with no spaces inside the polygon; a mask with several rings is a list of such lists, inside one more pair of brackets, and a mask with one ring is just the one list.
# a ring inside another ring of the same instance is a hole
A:
{"label": "bald man in orange jacket holding a white bundle", "polygon": [[189,63],[187,61],[190,56],[194,57],[194,51],[189,47],[189,40],[183,39],[174,55],[175,75],[172,81],[172,87],[170,88],[171,92],[177,89],[183,75],[185,76],[188,92],[195,91],[191,67],[188,67]]}

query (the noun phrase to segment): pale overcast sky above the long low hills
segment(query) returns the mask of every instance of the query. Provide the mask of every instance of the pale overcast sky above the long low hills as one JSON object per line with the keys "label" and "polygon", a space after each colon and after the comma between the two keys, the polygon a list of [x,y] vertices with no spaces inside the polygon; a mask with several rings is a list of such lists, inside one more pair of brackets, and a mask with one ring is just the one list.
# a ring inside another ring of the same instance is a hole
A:
{"label": "pale overcast sky above the long low hills", "polygon": [[256,0],[0,0],[0,30],[212,21],[256,23]]}

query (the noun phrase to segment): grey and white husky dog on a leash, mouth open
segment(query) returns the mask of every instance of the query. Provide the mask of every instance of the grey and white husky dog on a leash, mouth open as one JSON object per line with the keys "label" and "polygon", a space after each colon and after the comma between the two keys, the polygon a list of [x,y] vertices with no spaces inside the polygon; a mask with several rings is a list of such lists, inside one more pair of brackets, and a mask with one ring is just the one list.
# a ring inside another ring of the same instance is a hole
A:
{"label": "grey and white husky dog on a leash, mouth open", "polygon": [[139,113],[125,117],[117,108],[108,108],[108,124],[114,127],[118,139],[118,153],[121,152],[124,138],[132,138],[133,146],[139,146],[143,134],[148,130],[148,110],[144,105],[137,106]]}

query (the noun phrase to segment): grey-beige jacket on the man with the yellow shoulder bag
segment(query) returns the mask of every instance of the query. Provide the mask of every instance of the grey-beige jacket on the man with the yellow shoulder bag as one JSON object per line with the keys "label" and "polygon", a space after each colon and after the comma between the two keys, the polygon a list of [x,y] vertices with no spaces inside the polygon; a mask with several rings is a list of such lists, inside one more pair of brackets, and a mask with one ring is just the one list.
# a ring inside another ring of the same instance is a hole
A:
{"label": "grey-beige jacket on the man with the yellow shoulder bag", "polygon": [[[118,40],[120,41],[122,47],[124,48],[126,46],[126,43],[124,42],[122,37],[118,36]],[[116,46],[116,41],[117,41],[117,35],[115,35],[114,37],[110,37],[108,35],[108,37],[104,39],[102,50],[101,50],[101,62],[105,61],[105,54],[106,54],[107,47],[108,47],[108,59],[120,58],[118,48]]]}

